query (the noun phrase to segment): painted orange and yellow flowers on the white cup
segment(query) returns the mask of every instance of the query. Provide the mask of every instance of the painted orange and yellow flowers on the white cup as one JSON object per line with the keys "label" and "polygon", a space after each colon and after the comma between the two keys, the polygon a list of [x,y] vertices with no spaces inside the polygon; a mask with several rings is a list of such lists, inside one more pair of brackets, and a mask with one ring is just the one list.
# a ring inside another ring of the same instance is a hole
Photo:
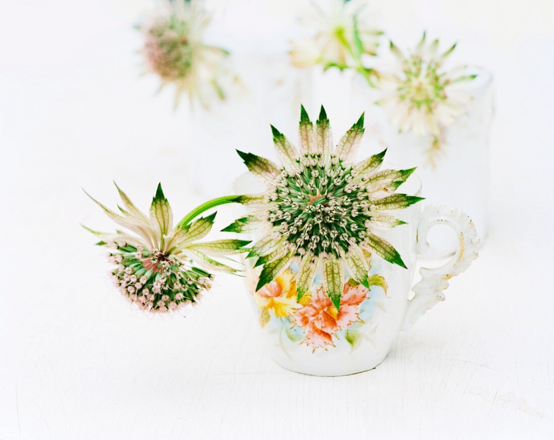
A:
{"label": "painted orange and yellow flowers on the white cup", "polygon": [[367,324],[361,317],[362,310],[370,306],[372,286],[379,286],[386,295],[388,286],[384,278],[372,275],[369,289],[350,278],[343,285],[341,306],[337,310],[321,284],[314,284],[297,301],[295,276],[288,269],[254,292],[261,327],[275,321],[278,331],[284,332],[290,341],[305,344],[313,351],[335,347],[340,339],[356,348],[362,338],[358,329]]}

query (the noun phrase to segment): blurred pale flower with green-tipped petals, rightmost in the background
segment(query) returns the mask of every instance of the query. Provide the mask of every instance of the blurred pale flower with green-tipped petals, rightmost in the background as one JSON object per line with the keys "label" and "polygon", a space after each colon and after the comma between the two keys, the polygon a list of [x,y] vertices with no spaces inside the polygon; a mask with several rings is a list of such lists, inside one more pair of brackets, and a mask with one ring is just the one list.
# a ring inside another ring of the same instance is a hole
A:
{"label": "blurred pale flower with green-tipped petals, rightmost in the background", "polygon": [[456,45],[439,53],[439,41],[428,43],[425,33],[408,55],[392,42],[390,47],[399,69],[397,73],[380,73],[378,86],[383,96],[378,103],[388,110],[389,120],[399,131],[432,137],[428,152],[434,164],[444,128],[452,125],[471,101],[464,88],[476,75],[466,74],[467,66],[445,69],[444,61]]}

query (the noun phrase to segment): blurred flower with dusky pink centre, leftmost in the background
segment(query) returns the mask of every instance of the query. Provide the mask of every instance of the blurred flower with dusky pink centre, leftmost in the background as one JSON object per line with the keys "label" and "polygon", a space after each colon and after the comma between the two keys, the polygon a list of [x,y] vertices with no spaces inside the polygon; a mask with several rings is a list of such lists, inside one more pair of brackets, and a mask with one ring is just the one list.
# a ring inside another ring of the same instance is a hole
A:
{"label": "blurred flower with dusky pink centre, leftmost in the background", "polygon": [[203,43],[208,16],[185,0],[166,1],[166,11],[143,25],[142,53],[148,69],[160,76],[162,86],[175,84],[181,94],[207,106],[213,97],[224,99],[222,81],[228,79],[227,51]]}

